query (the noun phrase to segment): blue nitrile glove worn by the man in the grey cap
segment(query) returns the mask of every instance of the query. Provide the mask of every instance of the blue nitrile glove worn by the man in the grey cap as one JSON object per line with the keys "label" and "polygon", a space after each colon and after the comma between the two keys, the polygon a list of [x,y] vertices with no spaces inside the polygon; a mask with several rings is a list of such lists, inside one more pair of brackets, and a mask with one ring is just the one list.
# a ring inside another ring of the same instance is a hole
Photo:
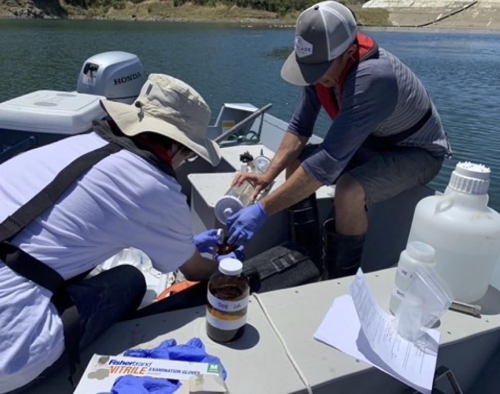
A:
{"label": "blue nitrile glove worn by the man in the grey cap", "polygon": [[228,244],[242,245],[253,237],[253,234],[262,227],[267,219],[267,213],[262,209],[260,202],[229,216],[226,224],[229,235]]}

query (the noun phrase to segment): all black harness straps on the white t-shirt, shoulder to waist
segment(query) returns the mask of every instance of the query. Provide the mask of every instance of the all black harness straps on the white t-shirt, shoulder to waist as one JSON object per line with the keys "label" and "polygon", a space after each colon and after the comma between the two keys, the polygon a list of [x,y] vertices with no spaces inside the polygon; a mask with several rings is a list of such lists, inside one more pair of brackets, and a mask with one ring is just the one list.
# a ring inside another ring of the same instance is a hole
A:
{"label": "all black harness straps on the white t-shirt, shoulder to waist", "polygon": [[62,169],[52,182],[0,224],[0,258],[10,269],[45,287],[53,294],[50,301],[56,307],[63,323],[64,345],[74,386],[82,377],[83,369],[80,359],[80,317],[71,295],[65,289],[69,281],[65,281],[56,270],[12,245],[10,241],[54,205],[79,176],[97,162],[121,149],[121,146],[109,143],[78,157]]}

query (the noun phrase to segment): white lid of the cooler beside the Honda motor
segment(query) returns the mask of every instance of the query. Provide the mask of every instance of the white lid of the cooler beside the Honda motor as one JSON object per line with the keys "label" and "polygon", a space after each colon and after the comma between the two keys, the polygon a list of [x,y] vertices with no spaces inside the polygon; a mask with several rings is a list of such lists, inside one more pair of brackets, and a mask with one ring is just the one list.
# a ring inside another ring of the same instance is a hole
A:
{"label": "white lid of the cooler beside the Honda motor", "polygon": [[79,134],[90,130],[106,112],[103,96],[38,90],[0,103],[0,129],[51,134]]}

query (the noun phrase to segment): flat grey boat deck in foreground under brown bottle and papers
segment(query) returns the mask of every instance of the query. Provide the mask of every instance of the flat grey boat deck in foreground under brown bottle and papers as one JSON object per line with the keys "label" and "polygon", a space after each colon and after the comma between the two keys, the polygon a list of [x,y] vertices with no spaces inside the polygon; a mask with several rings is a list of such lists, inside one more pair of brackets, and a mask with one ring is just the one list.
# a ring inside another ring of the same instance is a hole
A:
{"label": "flat grey boat deck in foreground under brown bottle and papers", "polygon": [[[366,274],[368,286],[386,311],[394,275],[394,268]],[[352,277],[319,282],[264,293],[259,298],[314,393],[402,393],[406,388],[403,383],[313,339],[333,300],[348,294],[351,281]],[[481,318],[448,311],[437,327],[441,331],[437,366],[452,369],[464,392],[469,392],[500,344],[500,292],[490,287],[487,296],[489,304],[483,305]],[[205,307],[195,307],[115,324],[83,352],[83,362],[94,353],[118,354],[134,347],[154,347],[170,338],[185,343],[192,337],[200,338],[207,352],[222,360],[232,394],[307,392],[253,297],[245,334],[234,343],[210,340],[205,331]],[[28,391],[40,392],[72,392],[66,371]]]}

